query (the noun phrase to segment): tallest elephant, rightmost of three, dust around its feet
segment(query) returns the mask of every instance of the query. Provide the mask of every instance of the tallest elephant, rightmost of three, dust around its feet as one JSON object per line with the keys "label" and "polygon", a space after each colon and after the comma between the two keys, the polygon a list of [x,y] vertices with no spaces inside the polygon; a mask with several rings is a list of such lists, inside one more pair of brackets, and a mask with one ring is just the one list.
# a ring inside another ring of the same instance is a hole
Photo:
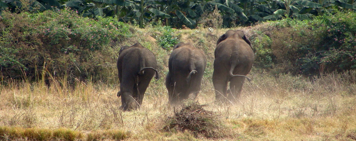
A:
{"label": "tallest elephant, rightmost of three, dust around its feet", "polygon": [[[226,98],[236,101],[240,97],[245,78],[250,81],[246,75],[254,60],[251,42],[243,31],[229,30],[218,39],[214,55],[215,98],[221,102],[225,102]],[[229,81],[230,90],[227,94]]]}

